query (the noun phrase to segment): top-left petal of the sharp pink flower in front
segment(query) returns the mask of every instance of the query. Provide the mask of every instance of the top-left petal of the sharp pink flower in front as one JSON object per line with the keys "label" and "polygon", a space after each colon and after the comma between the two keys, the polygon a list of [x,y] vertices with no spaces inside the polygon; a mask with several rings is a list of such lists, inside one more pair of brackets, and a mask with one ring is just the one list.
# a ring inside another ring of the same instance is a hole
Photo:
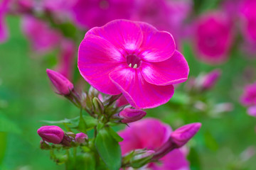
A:
{"label": "top-left petal of the sharp pink flower in front", "polygon": [[105,26],[92,28],[85,34],[85,37],[88,35],[97,35],[119,49],[131,51],[139,49],[143,39],[139,25],[127,20],[114,20]]}

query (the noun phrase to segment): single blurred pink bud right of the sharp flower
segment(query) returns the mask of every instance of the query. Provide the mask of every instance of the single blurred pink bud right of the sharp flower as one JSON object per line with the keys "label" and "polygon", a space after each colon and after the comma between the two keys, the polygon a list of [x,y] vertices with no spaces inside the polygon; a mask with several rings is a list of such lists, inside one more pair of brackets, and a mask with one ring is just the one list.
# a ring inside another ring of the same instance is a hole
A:
{"label": "single blurred pink bud right of the sharp flower", "polygon": [[220,77],[220,69],[215,69],[212,72],[208,73],[203,77],[202,88],[207,90],[213,88]]}

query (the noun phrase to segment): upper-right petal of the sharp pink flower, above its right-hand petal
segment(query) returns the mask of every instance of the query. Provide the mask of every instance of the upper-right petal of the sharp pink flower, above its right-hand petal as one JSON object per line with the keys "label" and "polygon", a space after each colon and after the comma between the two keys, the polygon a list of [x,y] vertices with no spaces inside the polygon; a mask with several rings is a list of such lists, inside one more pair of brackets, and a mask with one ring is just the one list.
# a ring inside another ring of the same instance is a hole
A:
{"label": "upper-right petal of the sharp pink flower, above its right-hand petal", "polygon": [[142,59],[147,62],[162,62],[174,54],[176,45],[173,36],[166,31],[158,31],[147,23],[139,23],[143,42],[140,47]]}

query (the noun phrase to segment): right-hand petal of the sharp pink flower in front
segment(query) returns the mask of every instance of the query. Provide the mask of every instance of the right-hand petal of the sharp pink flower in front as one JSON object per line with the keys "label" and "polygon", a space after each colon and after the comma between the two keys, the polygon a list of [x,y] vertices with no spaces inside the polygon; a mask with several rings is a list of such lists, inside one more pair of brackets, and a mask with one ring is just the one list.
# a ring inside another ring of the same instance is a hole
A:
{"label": "right-hand petal of the sharp pink flower in front", "polygon": [[141,68],[144,79],[150,84],[166,86],[188,79],[188,63],[178,51],[164,62],[142,62]]}

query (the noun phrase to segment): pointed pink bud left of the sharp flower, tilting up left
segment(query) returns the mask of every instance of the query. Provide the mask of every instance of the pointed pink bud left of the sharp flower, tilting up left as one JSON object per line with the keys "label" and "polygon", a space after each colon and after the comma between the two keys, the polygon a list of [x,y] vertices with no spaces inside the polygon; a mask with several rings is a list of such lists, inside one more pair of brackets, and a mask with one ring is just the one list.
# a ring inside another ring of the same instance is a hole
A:
{"label": "pointed pink bud left of the sharp flower, tilting up left", "polygon": [[55,86],[60,94],[68,95],[70,94],[70,91],[74,89],[74,85],[58,72],[46,69],[46,73],[48,74],[50,81],[53,83],[53,86]]}

